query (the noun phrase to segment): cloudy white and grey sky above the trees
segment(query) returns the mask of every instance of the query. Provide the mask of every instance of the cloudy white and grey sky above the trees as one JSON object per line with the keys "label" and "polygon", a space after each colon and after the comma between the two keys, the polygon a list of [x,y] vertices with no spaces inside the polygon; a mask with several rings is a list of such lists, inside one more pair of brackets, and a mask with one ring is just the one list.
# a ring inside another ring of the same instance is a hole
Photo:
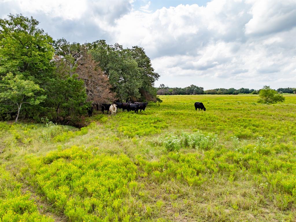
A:
{"label": "cloudy white and grey sky above the trees", "polygon": [[155,86],[296,87],[296,1],[7,1],[54,39],[143,47]]}

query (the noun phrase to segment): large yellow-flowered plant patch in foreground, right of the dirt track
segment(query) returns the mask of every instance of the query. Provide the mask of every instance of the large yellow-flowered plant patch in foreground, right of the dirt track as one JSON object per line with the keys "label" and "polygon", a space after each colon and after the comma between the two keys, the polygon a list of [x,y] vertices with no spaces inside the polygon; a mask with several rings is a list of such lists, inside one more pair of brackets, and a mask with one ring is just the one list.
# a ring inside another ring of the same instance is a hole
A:
{"label": "large yellow-flowered plant patch in foreground, right of the dirt track", "polygon": [[94,156],[72,147],[29,163],[32,182],[70,221],[124,221],[129,216],[125,197],[137,183],[136,166],[128,157]]}

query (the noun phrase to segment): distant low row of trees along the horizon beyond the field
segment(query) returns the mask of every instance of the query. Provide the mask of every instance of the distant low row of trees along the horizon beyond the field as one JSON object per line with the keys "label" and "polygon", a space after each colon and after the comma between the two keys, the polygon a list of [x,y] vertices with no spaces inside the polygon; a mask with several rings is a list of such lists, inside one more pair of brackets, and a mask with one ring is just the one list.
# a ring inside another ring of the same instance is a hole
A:
{"label": "distant low row of trees along the horizon beyond the field", "polygon": [[[259,94],[260,90],[248,89],[248,88],[217,88],[213,90],[204,90],[203,87],[198,87],[195,85],[190,85],[185,88],[178,87],[168,87],[164,84],[160,84],[157,89],[157,95],[202,95],[202,94],[211,94],[211,95],[237,95],[237,94]],[[279,93],[294,93],[296,88],[279,88],[276,90]]]}

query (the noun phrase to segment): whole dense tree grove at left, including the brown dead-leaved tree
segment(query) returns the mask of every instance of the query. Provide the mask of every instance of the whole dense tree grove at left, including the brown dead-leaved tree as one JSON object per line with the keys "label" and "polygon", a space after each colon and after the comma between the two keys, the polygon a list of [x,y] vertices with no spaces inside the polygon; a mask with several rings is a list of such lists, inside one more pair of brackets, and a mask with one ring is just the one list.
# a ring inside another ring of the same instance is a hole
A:
{"label": "whole dense tree grove at left, including the brown dead-leaved tree", "polygon": [[156,101],[143,48],[52,39],[33,17],[0,19],[0,115],[75,124],[90,106]]}

